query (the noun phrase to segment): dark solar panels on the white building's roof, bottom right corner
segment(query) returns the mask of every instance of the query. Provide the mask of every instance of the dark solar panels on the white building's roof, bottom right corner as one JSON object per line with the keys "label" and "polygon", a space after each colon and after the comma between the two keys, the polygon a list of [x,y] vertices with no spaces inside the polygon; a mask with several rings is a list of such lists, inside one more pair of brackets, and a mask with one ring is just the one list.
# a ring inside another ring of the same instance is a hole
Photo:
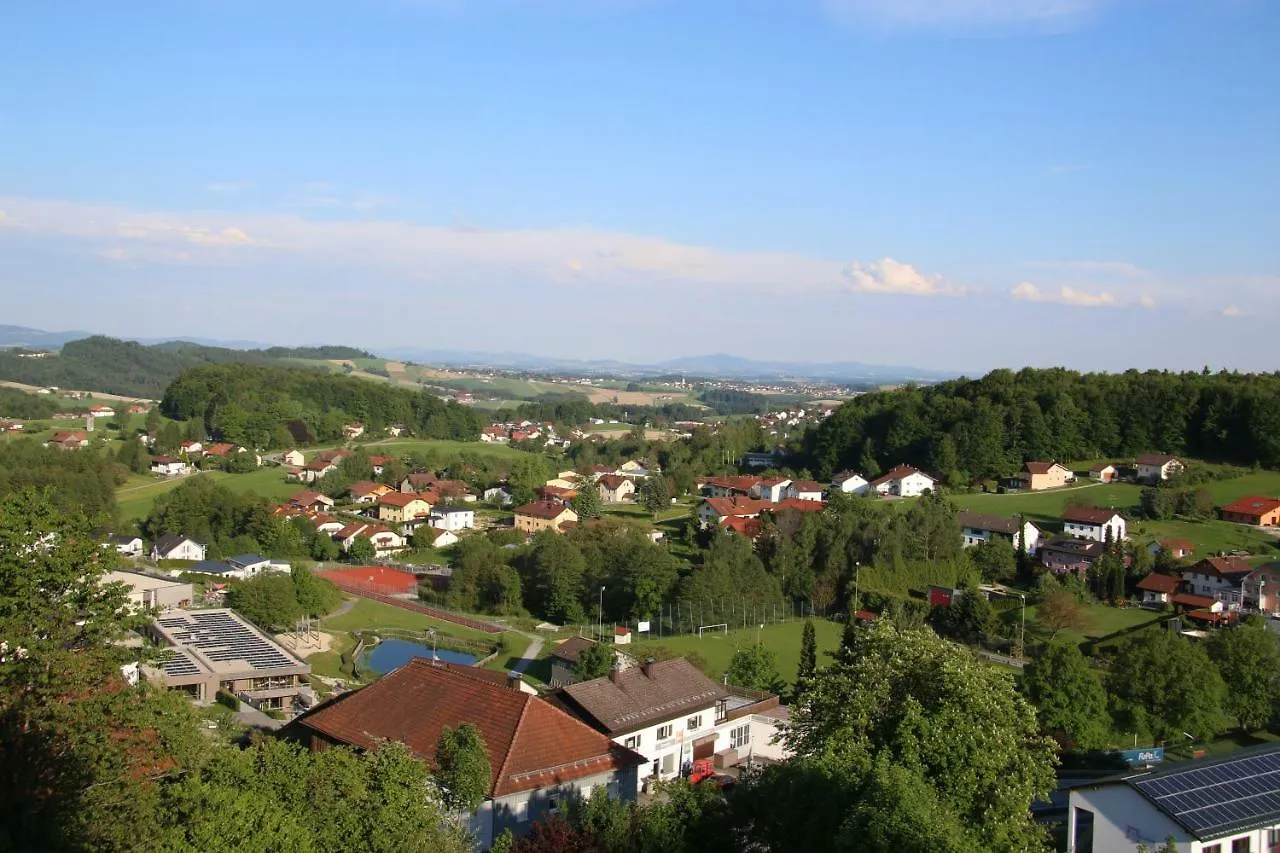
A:
{"label": "dark solar panels on the white building's roof, bottom right corner", "polygon": [[1197,835],[1280,817],[1280,752],[1138,779],[1133,786]]}

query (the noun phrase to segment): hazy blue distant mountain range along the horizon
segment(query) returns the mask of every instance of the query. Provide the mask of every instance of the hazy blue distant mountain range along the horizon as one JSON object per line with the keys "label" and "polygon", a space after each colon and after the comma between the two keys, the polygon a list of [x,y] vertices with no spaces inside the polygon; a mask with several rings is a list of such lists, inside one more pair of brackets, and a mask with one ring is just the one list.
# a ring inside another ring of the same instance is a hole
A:
{"label": "hazy blue distant mountain range along the horizon", "polygon": [[[63,345],[87,338],[90,332],[44,332],[20,325],[0,325],[0,347],[26,347],[56,350]],[[172,345],[172,338],[125,338],[143,345]],[[229,350],[265,350],[269,343],[259,341],[219,341],[211,338],[182,338],[184,342]],[[526,352],[476,352],[470,350],[421,350],[416,347],[375,347],[379,356],[415,361],[417,364],[451,368],[499,368],[527,371],[561,371],[586,375],[660,377],[684,375],[710,379],[818,379],[847,383],[937,382],[951,379],[957,373],[925,370],[905,365],[874,365],[860,361],[765,361],[741,356],[716,353],[669,359],[657,364],[631,364],[611,359],[556,359]]]}

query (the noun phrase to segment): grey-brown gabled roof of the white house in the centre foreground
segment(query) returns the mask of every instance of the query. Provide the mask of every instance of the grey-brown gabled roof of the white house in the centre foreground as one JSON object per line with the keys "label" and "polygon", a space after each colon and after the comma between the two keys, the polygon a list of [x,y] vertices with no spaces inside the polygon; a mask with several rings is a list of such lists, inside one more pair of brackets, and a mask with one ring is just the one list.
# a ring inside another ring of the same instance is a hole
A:
{"label": "grey-brown gabled roof of the white house in the centre foreground", "polygon": [[614,671],[559,693],[568,707],[611,734],[673,720],[728,695],[682,657]]}

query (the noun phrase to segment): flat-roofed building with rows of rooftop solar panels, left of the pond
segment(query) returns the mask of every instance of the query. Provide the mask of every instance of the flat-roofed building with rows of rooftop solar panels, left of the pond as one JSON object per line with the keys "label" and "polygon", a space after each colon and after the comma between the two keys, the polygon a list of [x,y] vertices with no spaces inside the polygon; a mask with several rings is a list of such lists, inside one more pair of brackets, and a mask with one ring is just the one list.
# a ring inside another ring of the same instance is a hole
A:
{"label": "flat-roofed building with rows of rooftop solar panels, left of the pond", "polygon": [[143,667],[147,680],[184,690],[196,702],[212,702],[219,690],[278,711],[300,695],[314,702],[303,680],[311,667],[230,610],[174,610],[148,633],[170,651]]}

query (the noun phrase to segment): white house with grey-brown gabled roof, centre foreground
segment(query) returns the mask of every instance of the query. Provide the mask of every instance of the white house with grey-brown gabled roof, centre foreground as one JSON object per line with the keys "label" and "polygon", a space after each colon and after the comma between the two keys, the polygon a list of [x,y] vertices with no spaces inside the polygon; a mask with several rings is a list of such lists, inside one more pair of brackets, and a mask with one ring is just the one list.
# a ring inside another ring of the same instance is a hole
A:
{"label": "white house with grey-brown gabled roof, centre foreground", "polygon": [[[641,783],[675,779],[698,760],[719,757],[722,766],[746,760],[753,748],[764,748],[759,740],[772,740],[772,734],[753,738],[750,710],[780,708],[777,697],[735,693],[681,657],[614,667],[605,676],[566,685],[553,697],[614,743],[644,756]],[[731,717],[731,710],[748,713]],[[773,717],[774,725],[778,721]]]}

